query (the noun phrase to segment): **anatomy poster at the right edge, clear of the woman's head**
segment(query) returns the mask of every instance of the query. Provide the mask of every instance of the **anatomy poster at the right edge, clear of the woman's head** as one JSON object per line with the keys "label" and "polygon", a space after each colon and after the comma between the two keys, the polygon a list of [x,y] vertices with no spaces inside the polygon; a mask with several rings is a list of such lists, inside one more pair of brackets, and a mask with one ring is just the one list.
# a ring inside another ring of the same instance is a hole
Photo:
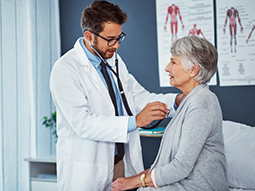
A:
{"label": "anatomy poster at the right edge, clear of the woman's head", "polygon": [[255,1],[218,0],[220,86],[255,85]]}

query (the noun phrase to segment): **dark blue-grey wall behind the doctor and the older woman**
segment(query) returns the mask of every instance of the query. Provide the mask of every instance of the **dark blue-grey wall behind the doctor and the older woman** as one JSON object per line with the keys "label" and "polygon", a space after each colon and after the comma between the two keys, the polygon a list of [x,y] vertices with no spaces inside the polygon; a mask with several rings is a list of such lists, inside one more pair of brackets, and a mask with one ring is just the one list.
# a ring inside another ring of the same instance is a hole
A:
{"label": "dark blue-grey wall behind the doctor and the older woman", "polygon": [[[72,48],[76,39],[83,35],[80,29],[81,12],[91,2],[92,0],[60,0],[62,54]],[[155,0],[110,2],[117,3],[128,14],[128,21],[123,25],[127,38],[118,53],[126,62],[130,73],[151,92],[179,92],[174,87],[159,87]],[[255,126],[255,86],[212,86],[210,89],[219,98],[224,120]],[[168,120],[163,121],[163,125],[167,122]],[[149,140],[142,138],[142,142],[144,141],[147,144]],[[153,138],[151,141],[155,141],[156,150],[158,140]],[[148,160],[145,161],[146,167],[151,159]]]}

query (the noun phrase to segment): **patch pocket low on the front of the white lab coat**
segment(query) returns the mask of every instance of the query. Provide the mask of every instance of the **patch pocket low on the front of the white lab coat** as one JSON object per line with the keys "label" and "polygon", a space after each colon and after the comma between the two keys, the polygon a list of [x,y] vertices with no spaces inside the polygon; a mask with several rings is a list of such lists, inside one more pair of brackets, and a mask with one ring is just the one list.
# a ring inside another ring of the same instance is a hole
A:
{"label": "patch pocket low on the front of the white lab coat", "polygon": [[74,162],[71,189],[75,191],[102,190],[102,164]]}

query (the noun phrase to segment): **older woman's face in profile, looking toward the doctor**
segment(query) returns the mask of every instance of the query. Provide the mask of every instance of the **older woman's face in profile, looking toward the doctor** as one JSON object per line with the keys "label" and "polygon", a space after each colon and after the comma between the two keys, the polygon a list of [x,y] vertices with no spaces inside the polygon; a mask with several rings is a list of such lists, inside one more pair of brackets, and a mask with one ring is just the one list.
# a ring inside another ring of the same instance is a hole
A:
{"label": "older woman's face in profile, looking toward the doctor", "polygon": [[185,88],[192,79],[190,77],[190,71],[185,71],[183,69],[181,56],[172,55],[165,71],[169,73],[170,84],[177,87],[181,91],[183,91],[183,88]]}

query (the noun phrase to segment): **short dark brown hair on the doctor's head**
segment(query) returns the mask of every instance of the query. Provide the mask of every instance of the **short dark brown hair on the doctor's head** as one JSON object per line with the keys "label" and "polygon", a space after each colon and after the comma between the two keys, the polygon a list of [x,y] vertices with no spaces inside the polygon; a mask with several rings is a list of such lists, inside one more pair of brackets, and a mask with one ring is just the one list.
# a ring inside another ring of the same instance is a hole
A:
{"label": "short dark brown hair on the doctor's head", "polygon": [[127,21],[127,14],[118,5],[107,1],[96,0],[83,10],[81,16],[81,29],[100,33],[104,30],[104,23],[113,22],[124,24]]}

